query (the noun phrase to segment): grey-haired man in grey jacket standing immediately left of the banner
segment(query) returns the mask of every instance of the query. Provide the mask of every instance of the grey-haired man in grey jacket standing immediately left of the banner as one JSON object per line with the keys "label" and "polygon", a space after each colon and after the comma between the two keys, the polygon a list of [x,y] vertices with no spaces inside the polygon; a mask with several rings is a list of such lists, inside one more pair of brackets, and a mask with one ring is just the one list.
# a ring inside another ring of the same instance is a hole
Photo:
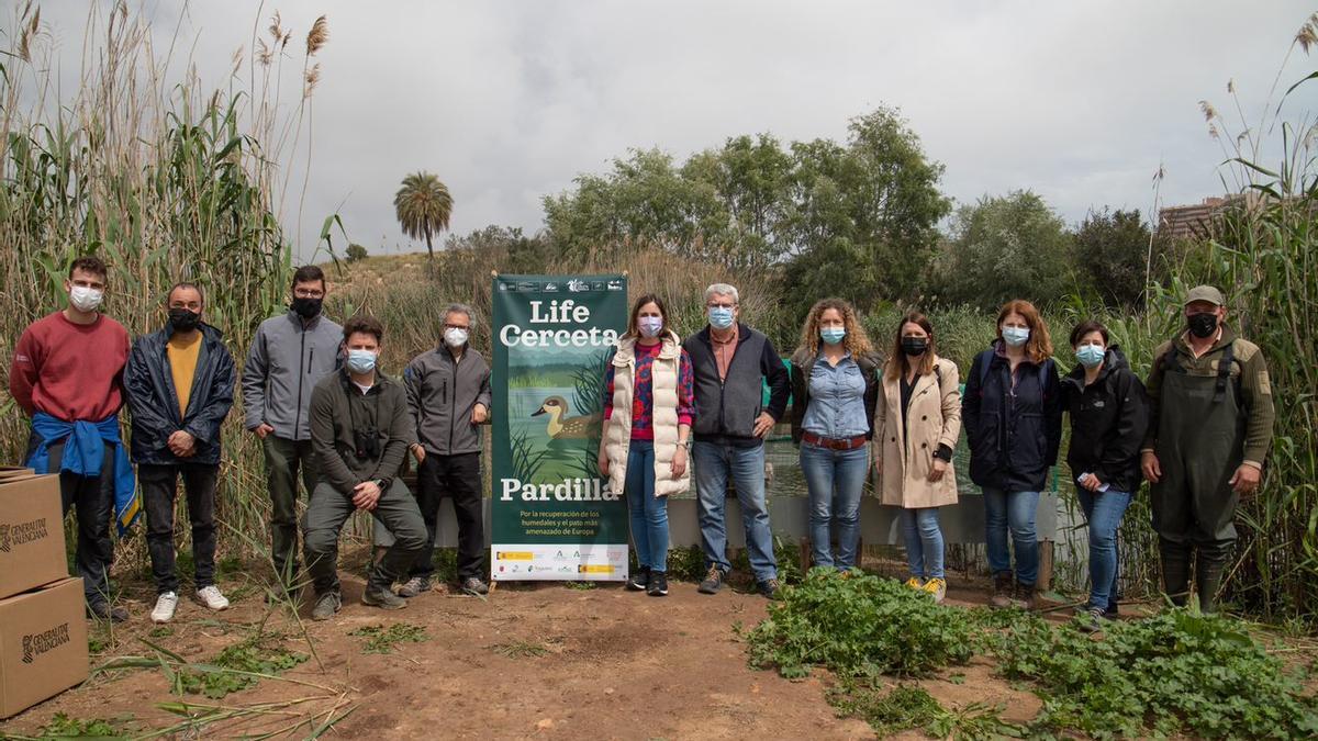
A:
{"label": "grey-haired man in grey jacket standing immediately left of the banner", "polygon": [[428,535],[423,558],[413,566],[411,579],[398,595],[415,597],[430,591],[439,501],[453,498],[457,516],[457,579],[463,592],[489,592],[485,584],[485,522],[481,502],[481,431],[489,418],[490,369],[468,345],[472,309],[452,303],[444,311],[443,339],[403,372],[407,407],[416,421],[416,504]]}

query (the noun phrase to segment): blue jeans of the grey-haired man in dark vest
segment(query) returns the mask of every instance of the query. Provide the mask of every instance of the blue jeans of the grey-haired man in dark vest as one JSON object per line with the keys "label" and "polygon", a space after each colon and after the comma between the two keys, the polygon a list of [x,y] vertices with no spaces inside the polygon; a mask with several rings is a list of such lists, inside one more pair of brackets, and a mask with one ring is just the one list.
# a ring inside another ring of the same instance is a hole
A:
{"label": "blue jeans of the grey-haired man in dark vest", "polygon": [[774,560],[774,533],[768,529],[768,504],[764,501],[764,446],[739,448],[728,443],[696,440],[691,446],[696,476],[696,497],[700,512],[700,542],[705,548],[705,562],[724,571],[731,568],[728,560],[728,529],[724,523],[724,505],[728,481],[737,489],[746,527],[746,555],[757,581],[778,579]]}

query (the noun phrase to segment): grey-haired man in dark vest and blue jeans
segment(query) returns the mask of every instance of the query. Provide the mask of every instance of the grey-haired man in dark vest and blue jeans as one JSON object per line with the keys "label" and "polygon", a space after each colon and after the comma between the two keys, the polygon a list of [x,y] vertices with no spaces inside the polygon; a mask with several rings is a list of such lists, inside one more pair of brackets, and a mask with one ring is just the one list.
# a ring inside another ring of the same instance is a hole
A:
{"label": "grey-haired man in dark vest and blue jeans", "polygon": [[[778,593],[774,534],[764,500],[764,438],[787,410],[791,381],[768,338],[737,320],[737,289],[714,283],[705,289],[709,324],[687,338],[696,378],[696,423],[692,464],[700,512],[700,539],[709,571],[700,592],[713,595],[724,585],[728,529],[724,505],[731,480],[746,527],[746,550],[759,592]],[[768,382],[768,406],[762,385]]]}

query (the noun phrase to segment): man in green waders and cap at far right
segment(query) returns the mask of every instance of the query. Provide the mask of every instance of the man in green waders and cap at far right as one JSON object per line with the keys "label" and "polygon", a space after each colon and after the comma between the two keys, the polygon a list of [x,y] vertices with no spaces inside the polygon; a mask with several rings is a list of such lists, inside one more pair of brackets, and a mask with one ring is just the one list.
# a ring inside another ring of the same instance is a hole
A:
{"label": "man in green waders and cap at far right", "polygon": [[1259,489],[1275,417],[1263,351],[1238,338],[1223,323],[1226,315],[1218,289],[1198,286],[1186,294],[1186,331],[1153,356],[1149,430],[1141,448],[1162,588],[1184,605],[1195,555],[1203,612],[1215,609],[1236,539],[1235,509]]}

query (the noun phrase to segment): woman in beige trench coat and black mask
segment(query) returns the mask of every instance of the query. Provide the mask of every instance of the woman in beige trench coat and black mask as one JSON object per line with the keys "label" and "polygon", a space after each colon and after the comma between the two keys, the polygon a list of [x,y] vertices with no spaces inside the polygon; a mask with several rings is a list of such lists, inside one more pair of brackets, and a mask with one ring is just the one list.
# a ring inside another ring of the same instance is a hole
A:
{"label": "woman in beige trench coat and black mask", "polygon": [[934,349],[929,319],[903,316],[874,410],[874,458],[883,504],[902,508],[907,585],[937,603],[948,592],[938,508],[957,502],[952,451],[961,434],[960,384],[957,364]]}

